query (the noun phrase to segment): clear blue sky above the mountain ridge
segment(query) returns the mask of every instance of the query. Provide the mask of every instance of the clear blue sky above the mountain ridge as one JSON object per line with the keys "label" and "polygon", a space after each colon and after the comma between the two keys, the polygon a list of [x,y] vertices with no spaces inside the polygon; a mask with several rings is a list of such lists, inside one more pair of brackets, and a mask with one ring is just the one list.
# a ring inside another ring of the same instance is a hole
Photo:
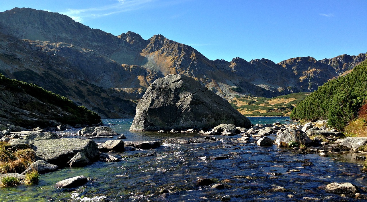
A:
{"label": "clear blue sky above the mountain ridge", "polygon": [[144,39],[162,34],[208,59],[317,60],[367,52],[367,0],[11,0],[91,28]]}

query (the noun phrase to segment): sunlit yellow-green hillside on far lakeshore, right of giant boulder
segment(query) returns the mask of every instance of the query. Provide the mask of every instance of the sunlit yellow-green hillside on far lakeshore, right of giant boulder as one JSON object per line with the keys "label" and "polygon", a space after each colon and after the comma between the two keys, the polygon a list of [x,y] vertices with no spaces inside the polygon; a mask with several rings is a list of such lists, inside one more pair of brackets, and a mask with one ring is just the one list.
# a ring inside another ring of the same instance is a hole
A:
{"label": "sunlit yellow-green hillside on far lakeshore, right of giant boulder", "polygon": [[246,116],[289,116],[292,109],[309,94],[291,93],[274,98],[236,95],[230,104]]}

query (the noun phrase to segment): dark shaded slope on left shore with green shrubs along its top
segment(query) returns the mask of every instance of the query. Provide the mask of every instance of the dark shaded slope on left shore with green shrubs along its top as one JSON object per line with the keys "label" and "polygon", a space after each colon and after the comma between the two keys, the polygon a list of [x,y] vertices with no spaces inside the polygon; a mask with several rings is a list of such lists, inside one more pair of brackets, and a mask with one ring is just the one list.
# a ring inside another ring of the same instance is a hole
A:
{"label": "dark shaded slope on left shore with green shrubs along its top", "polygon": [[22,127],[48,127],[62,123],[102,123],[101,117],[66,97],[0,74],[0,123]]}

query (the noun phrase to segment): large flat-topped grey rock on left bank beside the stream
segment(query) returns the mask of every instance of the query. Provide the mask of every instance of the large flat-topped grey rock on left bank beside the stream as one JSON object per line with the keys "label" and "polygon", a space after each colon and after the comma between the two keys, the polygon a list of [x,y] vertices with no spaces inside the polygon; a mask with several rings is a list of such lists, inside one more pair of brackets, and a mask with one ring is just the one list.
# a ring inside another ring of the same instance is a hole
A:
{"label": "large flat-topped grey rock on left bank beside the stream", "polygon": [[65,166],[78,152],[83,152],[90,160],[99,159],[97,144],[92,140],[77,138],[48,139],[31,142],[37,157],[48,163]]}

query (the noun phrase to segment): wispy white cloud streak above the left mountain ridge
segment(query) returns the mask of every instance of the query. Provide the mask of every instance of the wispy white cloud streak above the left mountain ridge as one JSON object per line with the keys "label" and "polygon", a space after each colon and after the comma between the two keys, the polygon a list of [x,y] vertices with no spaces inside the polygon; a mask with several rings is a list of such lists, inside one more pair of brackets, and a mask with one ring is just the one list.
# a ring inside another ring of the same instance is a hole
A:
{"label": "wispy white cloud streak above the left mountain ridge", "polygon": [[68,8],[61,14],[70,16],[75,21],[82,22],[84,18],[98,18],[102,16],[139,10],[149,7],[157,0],[116,0],[116,3],[96,8],[72,9]]}

